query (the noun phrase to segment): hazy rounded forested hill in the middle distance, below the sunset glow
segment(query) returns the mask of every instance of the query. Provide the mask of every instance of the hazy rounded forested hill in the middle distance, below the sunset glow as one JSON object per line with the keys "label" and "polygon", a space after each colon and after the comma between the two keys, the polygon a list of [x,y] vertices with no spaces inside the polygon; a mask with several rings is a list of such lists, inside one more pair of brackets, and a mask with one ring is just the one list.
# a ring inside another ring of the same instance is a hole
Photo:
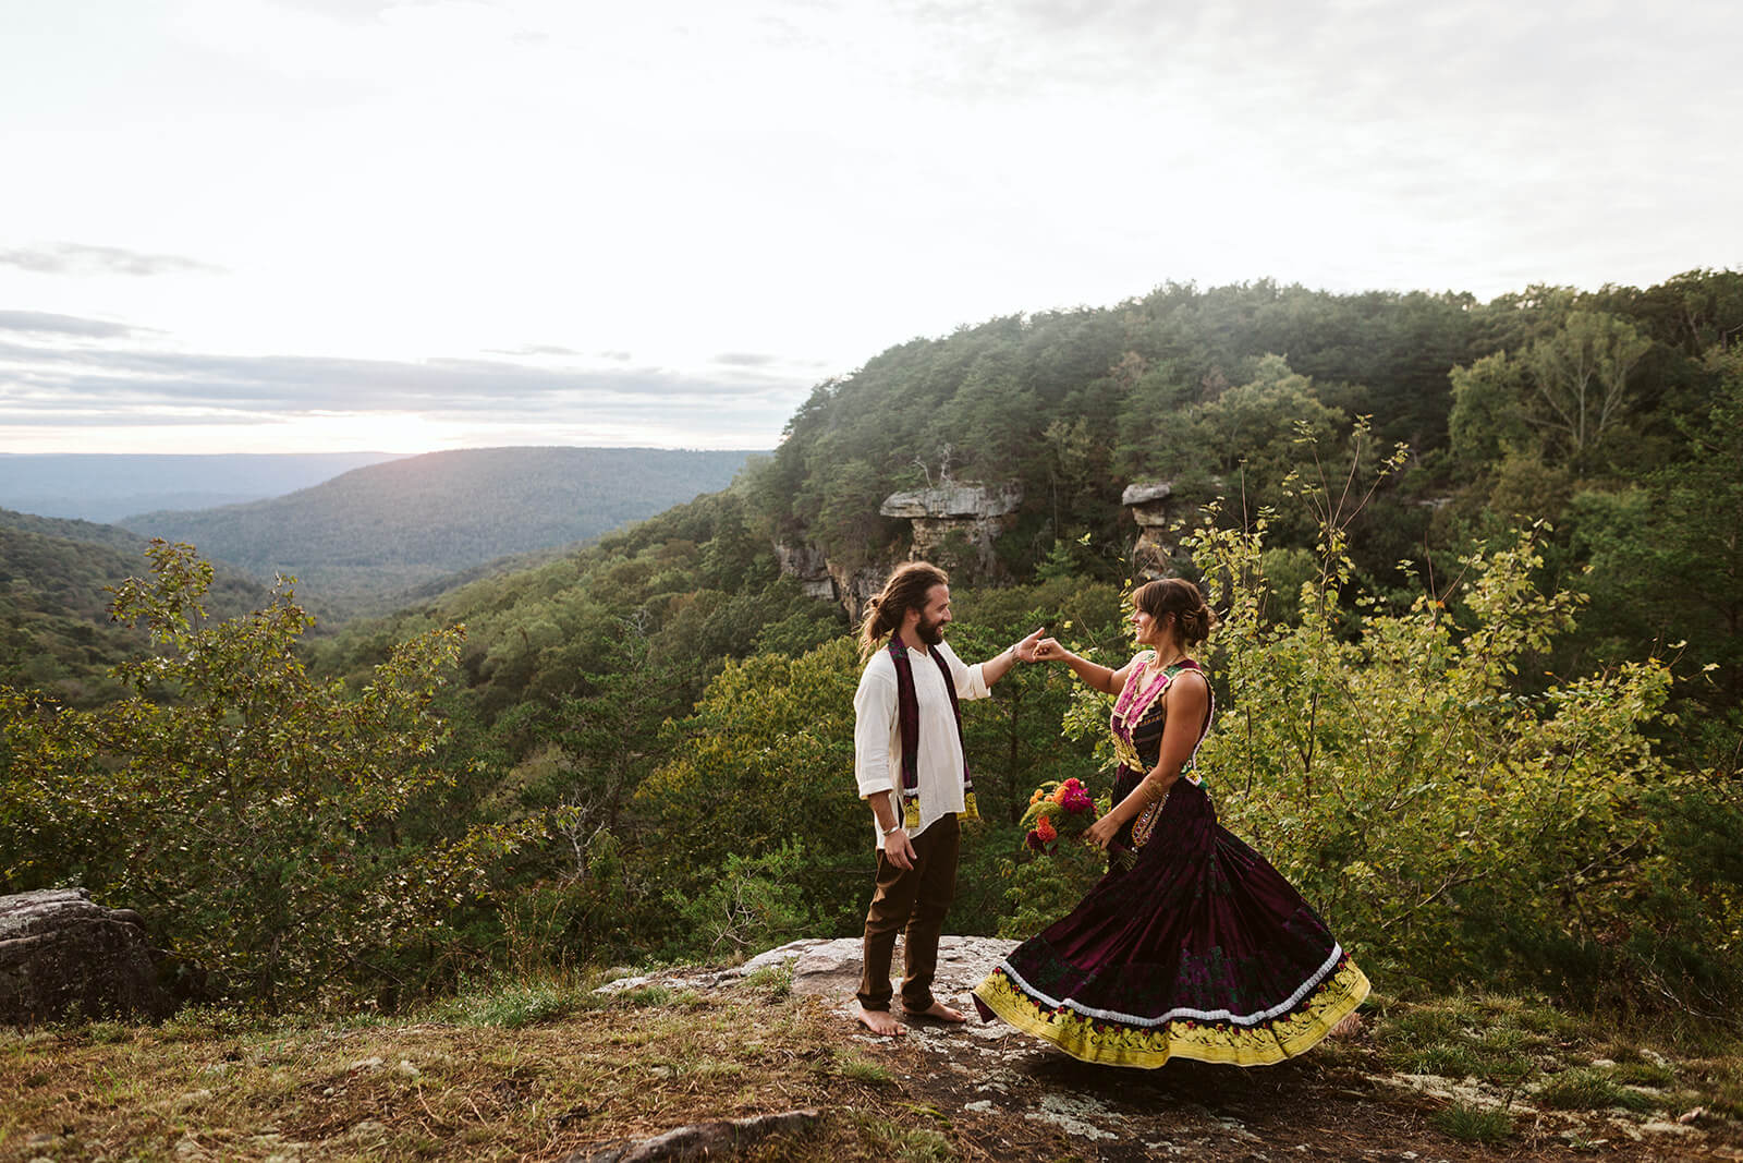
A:
{"label": "hazy rounded forested hill in the middle distance, below the sunset glow", "polygon": [[125,527],[190,542],[263,581],[295,575],[322,614],[495,558],[566,546],[723,488],[749,453],[666,448],[465,448],[354,469],[300,492]]}

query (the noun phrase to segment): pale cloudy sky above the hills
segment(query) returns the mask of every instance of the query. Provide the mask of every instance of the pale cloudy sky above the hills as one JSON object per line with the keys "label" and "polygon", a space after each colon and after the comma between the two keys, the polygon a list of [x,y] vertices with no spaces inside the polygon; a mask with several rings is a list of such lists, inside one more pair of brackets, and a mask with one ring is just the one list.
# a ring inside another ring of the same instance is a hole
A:
{"label": "pale cloudy sky above the hills", "polygon": [[0,452],[772,448],[1163,282],[1743,269],[1734,0],[0,0]]}

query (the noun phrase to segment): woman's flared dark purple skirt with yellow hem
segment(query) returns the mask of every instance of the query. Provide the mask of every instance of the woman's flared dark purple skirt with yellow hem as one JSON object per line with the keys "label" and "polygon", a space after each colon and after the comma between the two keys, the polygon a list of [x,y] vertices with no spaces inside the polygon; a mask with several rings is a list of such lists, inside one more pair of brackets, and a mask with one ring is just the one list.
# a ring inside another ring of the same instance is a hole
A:
{"label": "woman's flared dark purple skirt with yellow hem", "polygon": [[1367,996],[1368,978],[1300,893],[1180,779],[1135,863],[1018,945],[974,1004],[1086,1062],[1267,1065],[1311,1048]]}

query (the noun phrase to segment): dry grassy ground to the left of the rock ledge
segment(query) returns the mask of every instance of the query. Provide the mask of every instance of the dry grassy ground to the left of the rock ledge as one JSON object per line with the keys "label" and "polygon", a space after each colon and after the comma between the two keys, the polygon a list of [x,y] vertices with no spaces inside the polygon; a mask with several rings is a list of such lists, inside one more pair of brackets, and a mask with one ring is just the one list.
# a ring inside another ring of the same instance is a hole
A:
{"label": "dry grassy ground to the left of the rock ledge", "polygon": [[0,1029],[0,1160],[174,1158],[188,1139],[227,1160],[563,1158],[793,1107],[828,1114],[749,1158],[957,1158],[955,1132],[901,1130],[913,1116],[892,1058],[915,1051],[838,1051],[837,1015],[777,992],[535,982],[396,1024],[185,1011]]}

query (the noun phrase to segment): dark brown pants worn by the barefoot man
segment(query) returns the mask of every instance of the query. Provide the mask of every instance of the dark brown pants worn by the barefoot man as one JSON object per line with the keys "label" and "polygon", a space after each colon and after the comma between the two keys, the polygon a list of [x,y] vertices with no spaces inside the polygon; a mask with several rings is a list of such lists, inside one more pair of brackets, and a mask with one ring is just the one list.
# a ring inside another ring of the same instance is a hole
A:
{"label": "dark brown pants worn by the barefoot man", "polygon": [[938,935],[945,931],[945,912],[957,893],[962,825],[955,816],[943,816],[912,842],[913,868],[898,868],[882,849],[877,854],[877,893],[866,912],[865,968],[859,973],[859,1004],[866,1010],[889,1010],[889,959],[896,935],[905,928],[901,1004],[910,1013],[933,1008]]}

